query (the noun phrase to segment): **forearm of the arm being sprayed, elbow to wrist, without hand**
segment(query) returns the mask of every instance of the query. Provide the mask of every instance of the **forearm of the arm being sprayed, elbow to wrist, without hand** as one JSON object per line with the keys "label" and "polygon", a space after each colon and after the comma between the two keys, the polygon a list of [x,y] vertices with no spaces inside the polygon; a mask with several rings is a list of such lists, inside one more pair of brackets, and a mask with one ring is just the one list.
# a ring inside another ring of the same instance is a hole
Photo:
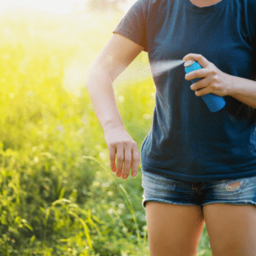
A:
{"label": "forearm of the arm being sprayed, elbow to wrist, without hand", "polygon": [[104,131],[116,126],[124,126],[113,92],[113,79],[105,67],[90,68],[86,79],[92,107]]}

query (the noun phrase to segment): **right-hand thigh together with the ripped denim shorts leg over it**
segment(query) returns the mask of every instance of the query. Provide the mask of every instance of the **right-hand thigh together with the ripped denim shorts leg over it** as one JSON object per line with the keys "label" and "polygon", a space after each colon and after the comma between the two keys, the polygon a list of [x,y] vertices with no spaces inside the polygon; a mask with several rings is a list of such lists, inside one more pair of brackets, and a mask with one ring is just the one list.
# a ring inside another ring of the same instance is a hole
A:
{"label": "right-hand thigh together with the ripped denim shorts leg over it", "polygon": [[256,255],[256,177],[209,183],[203,198],[212,255]]}

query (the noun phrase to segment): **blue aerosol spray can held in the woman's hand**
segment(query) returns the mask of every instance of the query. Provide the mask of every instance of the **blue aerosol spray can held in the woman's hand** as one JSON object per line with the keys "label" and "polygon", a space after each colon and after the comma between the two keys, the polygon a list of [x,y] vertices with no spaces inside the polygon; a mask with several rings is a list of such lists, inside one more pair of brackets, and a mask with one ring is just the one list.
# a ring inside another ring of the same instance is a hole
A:
{"label": "blue aerosol spray can held in the woman's hand", "polygon": [[[201,65],[197,61],[185,61],[184,63],[185,73],[192,72],[197,69],[201,69]],[[199,81],[201,79],[193,79],[190,80],[192,84]],[[217,112],[218,110],[224,108],[225,101],[222,96],[218,96],[213,93],[208,93],[206,95],[201,96],[203,101],[206,102],[207,107],[210,109],[211,112]]]}

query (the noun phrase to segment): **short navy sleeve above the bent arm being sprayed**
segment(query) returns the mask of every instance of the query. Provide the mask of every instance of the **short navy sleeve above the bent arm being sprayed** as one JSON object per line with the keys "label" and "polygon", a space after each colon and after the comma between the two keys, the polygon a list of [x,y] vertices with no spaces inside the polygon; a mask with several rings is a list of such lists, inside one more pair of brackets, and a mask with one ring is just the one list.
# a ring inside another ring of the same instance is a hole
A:
{"label": "short navy sleeve above the bent arm being sprayed", "polygon": [[137,0],[113,30],[113,33],[118,33],[143,46],[143,50],[146,52],[148,52],[146,34],[147,1]]}

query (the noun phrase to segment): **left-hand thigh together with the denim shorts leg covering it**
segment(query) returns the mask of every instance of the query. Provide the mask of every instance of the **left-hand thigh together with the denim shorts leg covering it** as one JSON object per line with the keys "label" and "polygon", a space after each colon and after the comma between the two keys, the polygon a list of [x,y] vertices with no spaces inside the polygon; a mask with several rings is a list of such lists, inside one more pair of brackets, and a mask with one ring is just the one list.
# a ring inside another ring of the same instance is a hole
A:
{"label": "left-hand thigh together with the denim shorts leg covering it", "polygon": [[143,173],[150,256],[195,256],[204,226],[191,183]]}

